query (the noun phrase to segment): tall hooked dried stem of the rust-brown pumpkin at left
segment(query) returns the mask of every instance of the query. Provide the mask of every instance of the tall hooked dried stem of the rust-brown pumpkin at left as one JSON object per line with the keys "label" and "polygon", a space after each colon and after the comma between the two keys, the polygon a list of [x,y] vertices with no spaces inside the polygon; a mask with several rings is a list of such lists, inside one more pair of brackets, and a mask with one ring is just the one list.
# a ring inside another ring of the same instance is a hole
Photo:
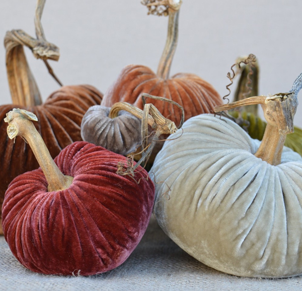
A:
{"label": "tall hooked dried stem of the rust-brown pumpkin at left", "polygon": [[36,58],[43,59],[48,71],[58,81],[47,63],[47,59],[59,59],[59,48],[45,39],[40,21],[44,5],[45,0],[37,1],[35,17],[37,39],[31,37],[21,29],[8,31],[4,39],[7,74],[12,101],[13,104],[18,106],[42,104],[41,95],[29,68],[23,46],[29,47]]}

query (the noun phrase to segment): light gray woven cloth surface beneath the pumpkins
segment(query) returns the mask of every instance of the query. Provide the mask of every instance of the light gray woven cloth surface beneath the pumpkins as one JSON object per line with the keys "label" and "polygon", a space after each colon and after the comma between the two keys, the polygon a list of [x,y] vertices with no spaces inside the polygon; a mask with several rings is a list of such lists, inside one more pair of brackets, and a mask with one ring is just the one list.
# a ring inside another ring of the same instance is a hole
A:
{"label": "light gray woven cloth surface beneath the pumpkins", "polygon": [[221,273],[185,253],[152,217],[130,257],[118,268],[90,277],[41,275],[25,269],[0,237],[0,290],[301,290],[302,276],[286,279],[242,278]]}

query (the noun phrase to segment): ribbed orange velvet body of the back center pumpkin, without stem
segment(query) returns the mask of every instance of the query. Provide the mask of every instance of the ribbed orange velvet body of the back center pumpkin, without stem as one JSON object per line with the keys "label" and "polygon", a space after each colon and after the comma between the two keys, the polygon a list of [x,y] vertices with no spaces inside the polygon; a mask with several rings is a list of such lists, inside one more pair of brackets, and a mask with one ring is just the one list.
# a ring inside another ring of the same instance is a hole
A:
{"label": "ribbed orange velvet body of the back center pumpkin, without stem", "polygon": [[[128,65],[120,73],[116,82],[105,93],[101,105],[111,107],[124,101],[143,109],[141,94],[148,93],[171,99],[185,111],[185,119],[192,116],[211,113],[222,101],[216,90],[196,75],[176,74],[170,79],[159,78],[152,69],[143,65]],[[167,118],[178,125],[181,111],[171,104],[159,100],[147,99]]]}

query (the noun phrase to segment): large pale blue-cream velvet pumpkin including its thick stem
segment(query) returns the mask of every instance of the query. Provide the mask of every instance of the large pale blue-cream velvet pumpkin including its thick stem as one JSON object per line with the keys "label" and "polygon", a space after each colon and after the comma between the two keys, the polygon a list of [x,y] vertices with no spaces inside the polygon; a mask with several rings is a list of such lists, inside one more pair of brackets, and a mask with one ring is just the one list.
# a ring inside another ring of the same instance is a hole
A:
{"label": "large pale blue-cream velvet pumpkin including its thick stem", "polygon": [[302,74],[288,93],[216,108],[260,103],[268,122],[262,142],[206,114],[186,121],[158,154],[154,214],[204,264],[237,276],[302,273],[302,158],[283,148],[301,86]]}

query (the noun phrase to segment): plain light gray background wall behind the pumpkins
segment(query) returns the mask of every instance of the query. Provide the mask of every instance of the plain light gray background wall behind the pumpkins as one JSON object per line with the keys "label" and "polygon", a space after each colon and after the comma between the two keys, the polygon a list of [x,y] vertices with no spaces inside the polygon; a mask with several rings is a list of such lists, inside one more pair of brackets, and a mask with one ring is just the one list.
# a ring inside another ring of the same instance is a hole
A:
{"label": "plain light gray background wall behind the pumpkins", "polygon": [[[35,5],[36,0],[1,0],[0,38],[13,28],[34,36]],[[105,92],[127,64],[156,70],[168,19],[146,12],[139,0],[48,0],[42,24],[47,40],[60,47],[61,58],[51,65],[63,84],[87,83]],[[300,0],[183,0],[171,74],[195,73],[223,96],[234,60],[254,53],[261,66],[260,94],[288,91],[302,71],[301,13]],[[28,49],[27,56],[45,100],[58,86]],[[10,92],[3,46],[0,60],[4,104]],[[295,124],[302,127],[300,103]]]}

